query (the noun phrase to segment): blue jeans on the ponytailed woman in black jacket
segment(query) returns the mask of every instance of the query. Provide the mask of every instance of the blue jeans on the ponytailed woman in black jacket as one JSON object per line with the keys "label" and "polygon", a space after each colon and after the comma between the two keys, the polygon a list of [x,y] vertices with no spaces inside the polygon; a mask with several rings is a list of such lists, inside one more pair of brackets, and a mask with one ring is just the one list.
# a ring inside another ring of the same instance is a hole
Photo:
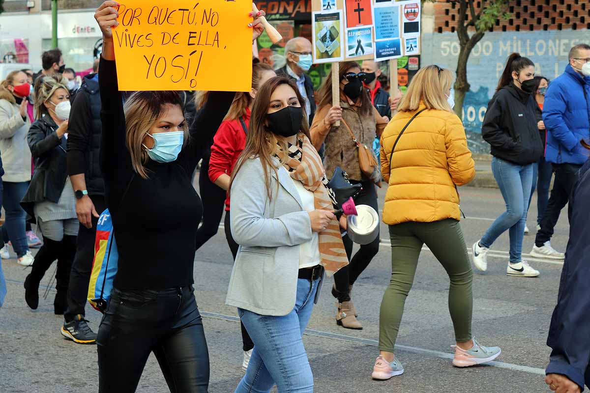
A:
{"label": "blue jeans on the ponytailed woman in black jacket", "polygon": [[480,245],[490,247],[506,230],[510,238],[510,262],[520,262],[525,236],[527,206],[533,181],[533,164],[518,165],[493,157],[491,171],[506,203],[502,213],[481,237]]}

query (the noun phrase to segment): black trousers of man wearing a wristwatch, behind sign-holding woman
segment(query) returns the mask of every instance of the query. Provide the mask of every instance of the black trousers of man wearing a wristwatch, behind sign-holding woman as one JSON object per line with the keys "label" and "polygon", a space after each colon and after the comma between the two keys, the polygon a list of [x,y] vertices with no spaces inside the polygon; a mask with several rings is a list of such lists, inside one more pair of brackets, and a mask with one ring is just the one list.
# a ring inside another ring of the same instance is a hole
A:
{"label": "black trousers of man wearing a wristwatch, behind sign-holding woman", "polygon": [[[106,208],[104,196],[91,195],[96,212],[101,214]],[[70,322],[78,314],[85,315],[84,307],[88,298],[88,285],[92,273],[94,259],[94,242],[96,239],[97,217],[92,216],[92,227],[89,229],[80,224],[76,245],[76,256],[71,266],[70,285],[68,286],[68,309],[64,314],[65,322]]]}

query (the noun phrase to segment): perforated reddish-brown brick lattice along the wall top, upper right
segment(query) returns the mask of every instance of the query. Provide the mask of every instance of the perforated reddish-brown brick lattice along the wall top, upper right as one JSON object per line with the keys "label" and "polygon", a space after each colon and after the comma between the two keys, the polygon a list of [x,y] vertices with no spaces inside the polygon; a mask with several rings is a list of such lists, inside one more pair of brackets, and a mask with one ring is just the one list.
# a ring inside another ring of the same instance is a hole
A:
{"label": "perforated reddish-brown brick lattice along the wall top, upper right", "polygon": [[[512,14],[512,18],[496,21],[490,31],[590,29],[588,0],[510,0],[509,4],[506,11]],[[481,1],[476,0],[476,12],[480,5]],[[455,32],[459,5],[449,0],[438,0],[434,9],[434,31]],[[470,17],[469,12],[467,16]]]}

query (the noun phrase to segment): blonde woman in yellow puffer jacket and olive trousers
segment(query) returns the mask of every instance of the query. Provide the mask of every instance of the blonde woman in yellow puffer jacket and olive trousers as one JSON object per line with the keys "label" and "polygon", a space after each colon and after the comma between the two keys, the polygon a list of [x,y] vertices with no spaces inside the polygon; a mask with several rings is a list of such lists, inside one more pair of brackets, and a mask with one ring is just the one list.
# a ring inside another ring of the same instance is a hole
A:
{"label": "blonde woman in yellow puffer jacket and olive trousers", "polygon": [[404,372],[394,345],[424,244],[451,282],[448,305],[457,343],[453,365],[472,366],[500,355],[500,348],[482,346],[471,335],[473,270],[459,224],[457,186],[473,179],[475,164],[463,124],[451,108],[452,81],[451,71],[437,65],[418,71],[381,136],[381,170],[389,184],[383,222],[389,225],[392,274],[379,315],[375,379]]}

